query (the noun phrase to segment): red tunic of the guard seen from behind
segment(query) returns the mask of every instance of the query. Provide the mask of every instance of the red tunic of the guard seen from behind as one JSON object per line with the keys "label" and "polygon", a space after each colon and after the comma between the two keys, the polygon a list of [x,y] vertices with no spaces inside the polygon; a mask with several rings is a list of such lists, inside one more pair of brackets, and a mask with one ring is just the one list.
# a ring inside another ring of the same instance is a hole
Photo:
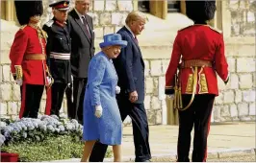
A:
{"label": "red tunic of the guard seen from behind", "polygon": [[[215,64],[215,68],[204,67],[201,73],[206,76],[208,93],[218,95],[216,72],[224,82],[228,80],[228,64],[225,58],[224,41],[221,33],[207,25],[192,25],[180,30],[174,40],[171,59],[166,70],[166,88],[175,84],[173,79],[181,57],[183,60],[210,60]],[[198,73],[200,70],[201,68],[198,68]],[[192,74],[191,68],[182,69],[179,77],[182,94],[186,94],[189,74]],[[196,94],[198,94],[199,90],[198,82]]]}

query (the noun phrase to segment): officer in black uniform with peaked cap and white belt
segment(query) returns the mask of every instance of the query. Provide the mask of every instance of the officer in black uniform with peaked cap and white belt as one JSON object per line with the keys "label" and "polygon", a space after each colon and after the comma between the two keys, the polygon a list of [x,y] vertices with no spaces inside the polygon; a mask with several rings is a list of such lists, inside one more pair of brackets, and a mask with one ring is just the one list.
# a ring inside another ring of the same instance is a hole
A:
{"label": "officer in black uniform with peaked cap and white belt", "polygon": [[66,25],[69,1],[54,1],[49,5],[54,14],[43,30],[48,35],[46,53],[54,83],[51,87],[51,114],[60,116],[60,109],[64,100],[64,91],[71,82],[70,52],[71,39]]}

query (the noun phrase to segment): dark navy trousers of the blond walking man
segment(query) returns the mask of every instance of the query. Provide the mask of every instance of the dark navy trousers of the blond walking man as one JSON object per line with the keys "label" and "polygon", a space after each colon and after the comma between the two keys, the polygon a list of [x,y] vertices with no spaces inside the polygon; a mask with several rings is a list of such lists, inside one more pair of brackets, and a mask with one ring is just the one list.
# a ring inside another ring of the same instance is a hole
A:
{"label": "dark navy trousers of the blond walking man", "polygon": [[[149,129],[144,104],[132,104],[127,95],[117,95],[117,104],[119,107],[122,121],[129,115],[132,119],[135,161],[143,162],[151,159],[148,137]],[[90,162],[103,162],[108,146],[96,142],[90,154]]]}

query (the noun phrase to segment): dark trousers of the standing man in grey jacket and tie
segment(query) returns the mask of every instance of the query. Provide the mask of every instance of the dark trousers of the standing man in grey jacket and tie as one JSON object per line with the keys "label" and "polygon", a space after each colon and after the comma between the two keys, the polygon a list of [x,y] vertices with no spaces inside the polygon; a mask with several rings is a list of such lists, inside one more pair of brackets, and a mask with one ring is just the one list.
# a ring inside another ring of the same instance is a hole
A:
{"label": "dark trousers of the standing man in grey jacket and tie", "polygon": [[83,125],[83,105],[87,87],[87,78],[73,77],[73,107],[72,119],[76,119]]}

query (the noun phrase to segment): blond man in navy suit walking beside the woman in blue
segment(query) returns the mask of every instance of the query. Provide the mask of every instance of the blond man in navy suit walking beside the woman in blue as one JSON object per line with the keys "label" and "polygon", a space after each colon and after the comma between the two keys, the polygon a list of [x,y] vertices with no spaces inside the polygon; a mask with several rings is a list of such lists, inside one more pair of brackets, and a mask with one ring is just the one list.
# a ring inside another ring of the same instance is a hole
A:
{"label": "blond man in navy suit walking beside the woman in blue", "polygon": [[[116,95],[122,121],[129,115],[132,119],[135,161],[148,162],[151,152],[148,142],[148,123],[144,108],[144,62],[136,35],[144,29],[146,17],[141,12],[130,12],[126,25],[117,34],[128,42],[118,58],[113,59],[118,76],[120,94]],[[96,143],[90,154],[90,161],[102,162],[107,150],[106,145]]]}

